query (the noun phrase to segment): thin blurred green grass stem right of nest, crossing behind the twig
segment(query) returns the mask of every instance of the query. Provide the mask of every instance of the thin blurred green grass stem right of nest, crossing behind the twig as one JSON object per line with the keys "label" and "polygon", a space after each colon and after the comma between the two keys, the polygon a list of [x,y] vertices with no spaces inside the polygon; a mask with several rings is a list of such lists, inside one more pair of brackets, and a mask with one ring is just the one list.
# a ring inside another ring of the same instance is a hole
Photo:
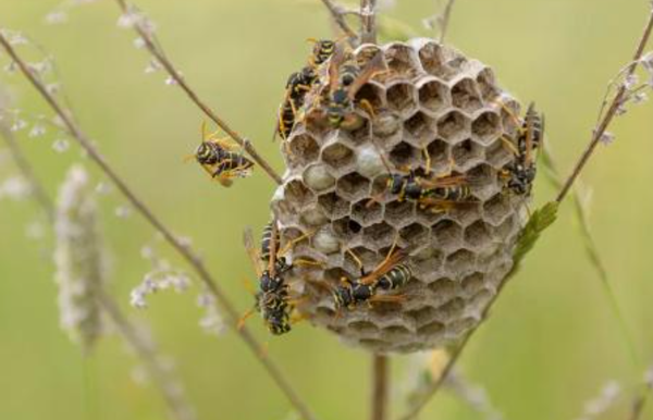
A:
{"label": "thin blurred green grass stem right of nest, crossing behind the twig", "polygon": [[[547,171],[545,171],[547,178],[556,188],[560,188],[563,185],[563,182],[560,180],[559,172],[557,170],[557,164],[551,152],[551,147],[549,146],[547,141],[544,141],[544,147],[542,150],[542,158],[543,158],[542,163],[544,164],[544,166],[547,170]],[[601,280],[601,284],[602,284],[603,289],[609,301],[609,306],[613,311],[613,314],[617,319],[617,323],[619,324],[619,329],[621,330],[621,335],[624,336],[625,346],[628,348],[628,353],[630,354],[632,365],[634,366],[636,369],[639,370],[639,369],[641,369],[640,356],[637,351],[637,347],[634,346],[634,341],[630,336],[630,333],[628,331],[628,324],[626,323],[624,313],[621,312],[619,302],[617,301],[616,295],[611,285],[609,277],[607,275],[607,269],[605,268],[605,264],[603,263],[603,259],[601,258],[601,254],[599,251],[599,246],[596,245],[596,242],[594,240],[594,237],[590,230],[589,218],[587,214],[586,207],[583,206],[582,199],[580,197],[580,190],[579,190],[578,186],[576,186],[571,189],[570,199],[572,201],[576,219],[578,220],[580,235],[583,238],[583,247],[586,249],[586,254],[587,254],[592,267],[594,267],[594,269],[596,270],[596,273],[599,274],[599,279]]]}

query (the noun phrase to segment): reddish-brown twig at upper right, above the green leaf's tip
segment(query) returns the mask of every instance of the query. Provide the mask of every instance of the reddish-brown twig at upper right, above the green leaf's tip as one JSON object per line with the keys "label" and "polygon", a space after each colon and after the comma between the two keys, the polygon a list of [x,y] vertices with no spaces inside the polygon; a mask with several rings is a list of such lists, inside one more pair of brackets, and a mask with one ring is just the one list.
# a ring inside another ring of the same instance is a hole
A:
{"label": "reddish-brown twig at upper right, above the green leaf's tip", "polygon": [[[642,37],[637,46],[632,62],[627,67],[628,70],[626,71],[626,77],[632,76],[634,74],[637,66],[639,64],[639,61],[644,53],[644,49],[646,48],[646,44],[649,42],[649,38],[651,37],[652,32],[653,32],[653,8],[651,9],[651,12],[649,13],[649,21],[646,22]],[[574,171],[571,172],[569,177],[565,181],[563,188],[558,193],[557,197],[556,197],[557,202],[562,202],[565,199],[565,197],[569,193],[569,189],[571,189],[574,182],[576,181],[578,175],[580,175],[580,173],[584,169],[584,166],[588,163],[588,161],[590,160],[592,153],[596,149],[596,146],[599,146],[599,144],[601,143],[601,139],[607,132],[607,127],[613,122],[614,118],[617,115],[619,108],[624,103],[623,100],[624,100],[624,97],[625,97],[627,90],[628,89],[625,84],[621,84],[619,86],[617,94],[615,95],[609,108],[607,109],[607,112],[605,113],[605,115],[603,116],[603,119],[601,120],[601,122],[599,123],[596,128],[594,128],[590,144],[583,151],[582,156],[576,163]]]}

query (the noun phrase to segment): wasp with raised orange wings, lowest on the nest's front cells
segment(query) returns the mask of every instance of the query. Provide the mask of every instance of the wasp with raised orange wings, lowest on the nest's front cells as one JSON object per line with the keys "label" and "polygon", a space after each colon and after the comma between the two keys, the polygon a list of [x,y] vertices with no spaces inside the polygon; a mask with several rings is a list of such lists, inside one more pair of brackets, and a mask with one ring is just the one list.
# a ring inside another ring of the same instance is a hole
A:
{"label": "wasp with raised orange wings, lowest on the nest's front cells", "polygon": [[387,256],[372,272],[367,274],[362,262],[352,251],[349,255],[360,267],[360,277],[349,280],[342,279],[342,284],[333,292],[333,300],[336,308],[353,309],[362,302],[372,301],[402,301],[402,296],[378,295],[379,291],[394,291],[404,286],[412,276],[410,267],[402,263],[407,256],[406,250],[395,251],[396,242],[391,247]]}

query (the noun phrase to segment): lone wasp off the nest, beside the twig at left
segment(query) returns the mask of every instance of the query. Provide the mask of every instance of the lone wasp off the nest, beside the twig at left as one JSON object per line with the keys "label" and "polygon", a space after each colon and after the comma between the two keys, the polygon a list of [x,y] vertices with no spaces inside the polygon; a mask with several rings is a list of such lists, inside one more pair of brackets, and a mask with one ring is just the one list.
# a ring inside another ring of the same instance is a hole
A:
{"label": "lone wasp off the nest, beside the twig at left", "polygon": [[189,158],[195,160],[209,175],[220,184],[229,187],[233,180],[251,174],[254,162],[243,156],[243,148],[235,141],[218,138],[215,134],[207,134],[207,125],[201,125],[201,143]]}

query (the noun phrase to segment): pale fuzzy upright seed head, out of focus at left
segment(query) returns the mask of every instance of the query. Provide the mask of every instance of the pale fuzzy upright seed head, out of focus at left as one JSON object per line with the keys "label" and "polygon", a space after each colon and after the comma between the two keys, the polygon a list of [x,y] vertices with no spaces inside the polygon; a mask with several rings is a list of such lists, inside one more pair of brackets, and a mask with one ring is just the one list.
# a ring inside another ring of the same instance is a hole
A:
{"label": "pale fuzzy upright seed head, out of focus at left", "polygon": [[102,331],[97,297],[104,283],[104,249],[88,174],[73,166],[59,190],[54,263],[61,326],[85,351]]}

